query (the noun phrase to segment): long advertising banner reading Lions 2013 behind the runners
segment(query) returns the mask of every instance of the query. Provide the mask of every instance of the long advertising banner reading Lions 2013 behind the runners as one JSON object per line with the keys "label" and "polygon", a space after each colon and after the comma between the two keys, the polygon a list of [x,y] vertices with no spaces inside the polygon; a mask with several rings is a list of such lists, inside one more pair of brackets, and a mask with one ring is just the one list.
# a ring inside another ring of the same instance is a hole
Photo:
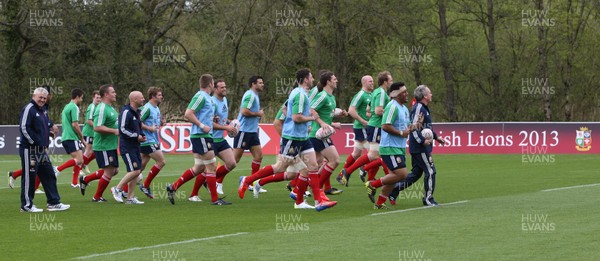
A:
{"label": "long advertising banner reading Lions 2013 behind the runners", "polygon": [[[271,124],[260,124],[259,127],[263,154],[277,154],[280,137],[275,128]],[[593,130],[600,131],[600,122],[437,123],[433,128],[446,141],[444,146],[434,142],[436,154],[600,154],[600,145],[593,145]],[[189,123],[161,127],[163,151],[191,153],[190,130]],[[331,139],[341,155],[352,153],[354,132],[351,124],[343,124]],[[226,140],[233,144],[232,138]],[[18,154],[18,144],[18,126],[0,126],[0,154]],[[50,152],[65,153],[60,137],[51,139]]]}

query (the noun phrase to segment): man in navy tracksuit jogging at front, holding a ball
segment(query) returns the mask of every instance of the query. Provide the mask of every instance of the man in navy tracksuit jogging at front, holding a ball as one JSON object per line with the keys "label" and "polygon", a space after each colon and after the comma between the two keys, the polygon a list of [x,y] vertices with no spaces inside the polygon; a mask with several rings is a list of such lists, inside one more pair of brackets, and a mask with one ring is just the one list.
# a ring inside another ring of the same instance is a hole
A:
{"label": "man in navy tracksuit jogging at front, holding a ball", "polygon": [[[427,105],[431,102],[432,94],[429,87],[420,85],[415,89],[415,99],[417,103],[413,106],[410,112],[411,122],[415,123],[419,121],[420,115],[422,115],[423,128],[431,129],[433,132],[433,140],[445,144],[444,140],[437,136],[433,131],[431,124],[431,114]],[[413,183],[417,182],[419,178],[425,172],[425,179],[423,180],[423,187],[425,188],[425,194],[423,195],[423,205],[425,206],[437,206],[438,203],[433,199],[433,191],[435,189],[435,166],[433,165],[433,158],[431,157],[431,151],[433,147],[431,144],[433,140],[423,138],[421,130],[415,130],[410,133],[409,138],[409,149],[412,161],[412,170],[406,179],[398,182],[396,187],[390,193],[390,201],[395,202],[400,191],[410,187]],[[394,204],[394,203],[392,203]]]}

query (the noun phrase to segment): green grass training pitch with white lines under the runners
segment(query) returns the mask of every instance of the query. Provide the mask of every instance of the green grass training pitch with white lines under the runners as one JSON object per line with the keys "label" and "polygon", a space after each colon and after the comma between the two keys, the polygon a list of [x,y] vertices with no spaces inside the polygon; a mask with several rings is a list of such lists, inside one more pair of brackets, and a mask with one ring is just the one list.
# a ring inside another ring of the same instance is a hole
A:
{"label": "green grass training pitch with white lines under the runners", "polygon": [[[66,159],[66,156],[63,157]],[[59,177],[64,212],[19,212],[20,186],[0,183],[2,260],[600,260],[600,162],[595,155],[555,155],[554,162],[524,163],[521,155],[434,155],[435,198],[424,208],[421,181],[390,210],[374,210],[357,173],[338,205],[317,213],[295,210],[286,183],[272,183],[259,199],[237,197],[237,181],[250,172],[250,156],[228,174],[231,206],[187,201],[185,184],[169,204],[164,186],[191,166],[190,155],[169,155],[153,182],[157,198],[144,205],[92,203]],[[342,159],[342,162],[345,158]],[[274,162],[266,156],[263,166]],[[409,161],[410,162],[410,161]],[[17,169],[17,156],[0,156],[0,171]],[[58,162],[55,162],[58,163]],[[90,166],[95,169],[96,166]],[[341,167],[336,170],[337,174]],[[113,179],[123,177],[122,167]],[[381,172],[378,176],[381,175]],[[17,180],[20,184],[20,179]],[[588,185],[589,186],[581,186]],[[553,188],[568,189],[550,190]],[[35,203],[45,206],[45,196]],[[312,202],[311,202],[312,203]]]}

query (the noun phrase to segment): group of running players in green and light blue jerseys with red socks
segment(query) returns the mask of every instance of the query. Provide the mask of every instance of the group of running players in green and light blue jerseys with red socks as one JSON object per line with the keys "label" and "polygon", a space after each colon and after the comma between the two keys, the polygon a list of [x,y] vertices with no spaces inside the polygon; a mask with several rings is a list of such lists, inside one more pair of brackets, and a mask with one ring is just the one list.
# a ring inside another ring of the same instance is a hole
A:
{"label": "group of running players in green and light blue jerseys with red socks", "polygon": [[[260,76],[250,78],[249,90],[244,93],[242,98],[238,118],[231,121],[228,119],[229,107],[225,82],[213,80],[210,75],[203,75],[200,79],[200,90],[194,95],[185,112],[185,118],[192,122],[190,137],[195,163],[173,184],[166,186],[170,202],[175,203],[176,191],[181,185],[195,178],[194,188],[188,200],[202,201],[198,197],[198,190],[205,185],[210,192],[213,205],[231,204],[219,198],[219,195],[223,194],[223,179],[236,167],[244,150],[250,150],[253,156],[252,171],[251,175],[240,177],[238,188],[240,198],[244,198],[247,189],[253,190],[254,197],[258,198],[260,193],[266,192],[262,188],[266,184],[290,180],[288,188],[291,190],[290,197],[296,201],[295,208],[321,211],[333,207],[337,202],[330,201],[327,195],[337,195],[342,192],[330,184],[330,176],[340,163],[339,154],[330,136],[334,133],[334,129],[341,129],[341,124],[333,122],[333,119],[350,115],[354,118],[354,149],[346,159],[341,173],[336,176],[336,180],[340,184],[348,186],[350,175],[360,169],[360,177],[363,182],[366,181],[368,196],[375,203],[375,208],[387,208],[384,202],[388,198],[392,204],[395,204],[395,197],[399,190],[412,184],[400,182],[408,176],[405,163],[406,139],[413,134],[419,140],[420,145],[424,147],[429,146],[432,141],[424,139],[420,132],[416,131],[424,126],[422,111],[415,111],[413,108],[412,117],[409,117],[408,109],[404,105],[408,101],[408,91],[404,84],[394,83],[391,74],[387,71],[379,73],[377,80],[379,87],[374,90],[373,78],[369,75],[362,77],[361,89],[352,98],[349,110],[346,112],[337,108],[333,95],[333,91],[337,89],[337,78],[332,72],[320,71],[318,84],[310,89],[314,81],[310,70],[298,70],[296,72],[298,86],[290,93],[273,122],[276,130],[282,136],[277,162],[260,169],[262,151],[258,136],[258,123],[264,116],[264,111],[260,108],[258,94],[264,90],[263,78]],[[418,88],[429,91],[426,86]],[[158,139],[159,128],[164,125],[164,118],[159,109],[163,96],[162,90],[156,87],[150,87],[147,94],[149,101],[138,112],[142,121],[143,133],[147,137],[147,140],[141,143],[142,164],[138,170],[143,171],[150,159],[155,160],[155,164],[139,186],[147,197],[154,198],[151,182],[166,165]],[[98,91],[94,91],[93,102],[88,106],[86,118],[82,122],[84,124],[82,131],[79,129],[77,105],[82,101],[83,93],[72,93],[71,98],[71,102],[65,106],[62,112],[62,141],[67,153],[73,159],[59,166],[58,171],[72,166],[71,186],[79,187],[81,193],[85,194],[85,189],[91,181],[100,179],[102,183],[104,176],[103,169],[80,176],[81,170],[87,169],[86,166],[94,159],[94,153],[92,153],[94,150],[94,126],[98,125],[97,117],[100,113],[97,108],[104,97]],[[104,105],[110,106],[110,100],[107,101],[108,104]],[[418,104],[417,107],[423,108],[422,104]],[[225,131],[230,137],[234,137],[234,148],[231,148],[224,139]],[[78,140],[79,137],[83,137],[83,139]],[[85,148],[85,151],[82,152],[80,148]],[[368,153],[363,155],[365,149],[368,150]],[[217,167],[215,156],[218,156],[224,165]],[[425,159],[424,163],[429,162]],[[375,180],[379,166],[383,167],[386,175]],[[435,172],[431,170],[432,167],[433,163],[431,162],[424,168],[427,174],[426,178],[431,176],[434,178]],[[415,163],[413,162],[414,171]],[[11,188],[19,173],[20,171],[9,172]],[[420,174],[418,176],[420,177]],[[142,181],[141,174],[139,181]],[[106,185],[108,182],[105,182]],[[106,185],[99,185],[92,201],[106,201],[102,197]],[[314,206],[304,200],[305,196],[311,195],[306,191],[309,185],[315,199]],[[379,187],[383,187],[383,191],[375,202],[375,191]],[[425,205],[437,205],[432,196],[433,185],[430,187],[430,191],[427,191],[426,187],[426,194],[429,198],[424,197],[423,202]],[[128,191],[127,184],[119,184],[113,189],[113,196],[116,200],[118,197],[128,198]],[[392,195],[390,196],[390,194]],[[132,202],[130,200],[127,202],[143,204],[137,198],[131,198],[131,200]]]}

